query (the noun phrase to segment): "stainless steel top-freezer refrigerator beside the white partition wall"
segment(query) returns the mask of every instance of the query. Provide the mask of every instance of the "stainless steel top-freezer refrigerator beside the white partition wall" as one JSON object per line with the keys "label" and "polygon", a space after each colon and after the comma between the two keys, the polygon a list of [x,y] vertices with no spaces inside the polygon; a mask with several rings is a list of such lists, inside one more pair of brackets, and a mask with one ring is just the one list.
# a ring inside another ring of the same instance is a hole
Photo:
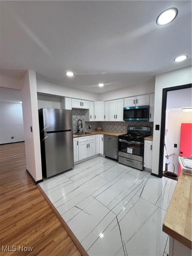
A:
{"label": "stainless steel top-freezer refrigerator beside the white partition wall", "polygon": [[39,109],[41,164],[44,177],[74,167],[72,111]]}

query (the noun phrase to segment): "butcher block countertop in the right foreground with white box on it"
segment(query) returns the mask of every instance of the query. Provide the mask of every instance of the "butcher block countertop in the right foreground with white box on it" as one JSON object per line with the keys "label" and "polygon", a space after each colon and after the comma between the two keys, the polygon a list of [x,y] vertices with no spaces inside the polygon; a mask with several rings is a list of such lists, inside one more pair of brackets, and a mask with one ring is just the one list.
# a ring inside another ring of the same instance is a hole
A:
{"label": "butcher block countertop in the right foreground with white box on it", "polygon": [[180,174],[167,214],[163,231],[191,249],[192,176]]}

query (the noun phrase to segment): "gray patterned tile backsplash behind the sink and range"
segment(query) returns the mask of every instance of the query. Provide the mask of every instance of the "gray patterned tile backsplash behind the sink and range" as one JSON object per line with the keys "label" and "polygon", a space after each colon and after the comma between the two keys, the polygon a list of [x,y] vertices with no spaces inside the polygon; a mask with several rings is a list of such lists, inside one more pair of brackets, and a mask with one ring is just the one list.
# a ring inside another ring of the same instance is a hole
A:
{"label": "gray patterned tile backsplash behind the sink and range", "polygon": [[[73,133],[77,132],[77,122],[79,119],[82,120],[83,128],[80,131],[88,131],[89,125],[91,131],[94,131],[97,127],[101,127],[104,131],[114,132],[127,132],[127,126],[149,126],[151,127],[151,134],[153,134],[153,122],[147,121],[125,121],[125,122],[85,122],[85,109],[72,109],[73,115]],[[89,131],[90,131],[89,130]]]}

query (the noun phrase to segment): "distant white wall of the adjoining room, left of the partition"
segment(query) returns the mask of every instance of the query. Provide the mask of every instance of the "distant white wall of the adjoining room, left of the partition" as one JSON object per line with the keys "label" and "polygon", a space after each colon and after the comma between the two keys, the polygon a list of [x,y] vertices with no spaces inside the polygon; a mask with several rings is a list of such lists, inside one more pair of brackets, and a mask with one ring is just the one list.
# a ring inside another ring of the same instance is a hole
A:
{"label": "distant white wall of the adjoining room, left of the partition", "polygon": [[24,141],[22,104],[0,102],[0,144],[18,141]]}

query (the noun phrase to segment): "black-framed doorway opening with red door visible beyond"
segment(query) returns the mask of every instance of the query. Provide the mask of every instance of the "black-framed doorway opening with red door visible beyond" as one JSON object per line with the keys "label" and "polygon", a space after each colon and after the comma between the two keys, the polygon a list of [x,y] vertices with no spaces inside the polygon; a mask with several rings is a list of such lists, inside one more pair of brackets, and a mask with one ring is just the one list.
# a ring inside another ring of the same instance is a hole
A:
{"label": "black-framed doorway opening with red door visible beyond", "polygon": [[159,177],[165,174],[165,170],[179,176],[179,156],[192,155],[191,95],[191,84],[163,89]]}

